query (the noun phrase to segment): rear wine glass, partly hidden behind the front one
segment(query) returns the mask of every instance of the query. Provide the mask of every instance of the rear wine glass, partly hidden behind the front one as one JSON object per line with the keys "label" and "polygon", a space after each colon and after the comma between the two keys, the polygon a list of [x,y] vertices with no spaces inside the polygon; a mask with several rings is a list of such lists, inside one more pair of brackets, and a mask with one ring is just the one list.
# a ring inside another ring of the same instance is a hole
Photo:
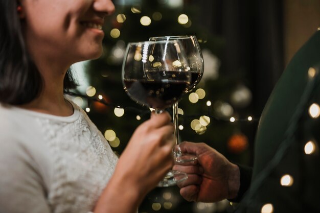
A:
{"label": "rear wine glass, partly hidden behind the front one", "polygon": [[[169,41],[169,40],[179,40],[184,46],[184,50],[187,56],[187,60],[190,67],[191,73],[191,83],[189,84],[188,91],[191,91],[196,87],[196,85],[200,82],[203,75],[203,57],[199,47],[198,40],[196,36],[160,36],[160,37],[151,37],[149,41]],[[176,135],[176,146],[174,148],[174,156],[175,162],[184,163],[195,161],[197,159],[196,156],[181,153],[179,147],[179,124],[178,124],[178,102],[175,102],[172,106],[173,110],[173,124],[175,127],[175,135]]]}

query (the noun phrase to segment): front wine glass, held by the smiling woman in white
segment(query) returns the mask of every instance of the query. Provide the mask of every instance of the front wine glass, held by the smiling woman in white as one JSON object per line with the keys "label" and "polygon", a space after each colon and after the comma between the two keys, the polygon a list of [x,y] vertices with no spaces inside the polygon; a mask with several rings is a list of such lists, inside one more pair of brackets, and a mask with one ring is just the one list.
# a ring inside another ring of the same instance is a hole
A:
{"label": "front wine glass, held by the smiling woman in white", "polygon": [[[190,81],[190,67],[180,41],[128,43],[122,83],[136,103],[162,113],[187,91]],[[174,185],[187,178],[186,173],[171,170],[158,186]]]}

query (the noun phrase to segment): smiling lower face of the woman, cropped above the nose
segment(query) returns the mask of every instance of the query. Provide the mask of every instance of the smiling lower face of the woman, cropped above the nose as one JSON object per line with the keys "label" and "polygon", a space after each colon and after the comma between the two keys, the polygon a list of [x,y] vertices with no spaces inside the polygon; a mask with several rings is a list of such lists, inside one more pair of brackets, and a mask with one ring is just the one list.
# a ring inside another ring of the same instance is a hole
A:
{"label": "smiling lower face of the woman, cropped above the nose", "polygon": [[[111,0],[21,0],[29,52],[66,63],[98,58]],[[40,58],[41,58],[40,57]]]}

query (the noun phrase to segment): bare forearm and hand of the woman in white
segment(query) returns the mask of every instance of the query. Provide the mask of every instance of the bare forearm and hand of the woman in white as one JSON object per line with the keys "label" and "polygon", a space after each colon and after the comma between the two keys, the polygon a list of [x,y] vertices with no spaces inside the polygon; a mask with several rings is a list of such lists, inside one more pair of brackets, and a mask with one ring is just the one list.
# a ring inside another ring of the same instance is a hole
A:
{"label": "bare forearm and hand of the woman in white", "polygon": [[169,113],[151,115],[133,133],[95,212],[136,212],[173,166],[174,127]]}

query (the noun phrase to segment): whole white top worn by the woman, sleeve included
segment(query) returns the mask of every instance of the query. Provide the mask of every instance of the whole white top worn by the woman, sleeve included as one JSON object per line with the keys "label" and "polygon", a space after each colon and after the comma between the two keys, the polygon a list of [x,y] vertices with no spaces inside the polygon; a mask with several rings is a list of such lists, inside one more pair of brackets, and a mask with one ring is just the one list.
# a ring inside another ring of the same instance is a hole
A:
{"label": "whole white top worn by the woman, sleeve included", "polygon": [[117,163],[74,105],[67,117],[0,104],[0,212],[92,211]]}

